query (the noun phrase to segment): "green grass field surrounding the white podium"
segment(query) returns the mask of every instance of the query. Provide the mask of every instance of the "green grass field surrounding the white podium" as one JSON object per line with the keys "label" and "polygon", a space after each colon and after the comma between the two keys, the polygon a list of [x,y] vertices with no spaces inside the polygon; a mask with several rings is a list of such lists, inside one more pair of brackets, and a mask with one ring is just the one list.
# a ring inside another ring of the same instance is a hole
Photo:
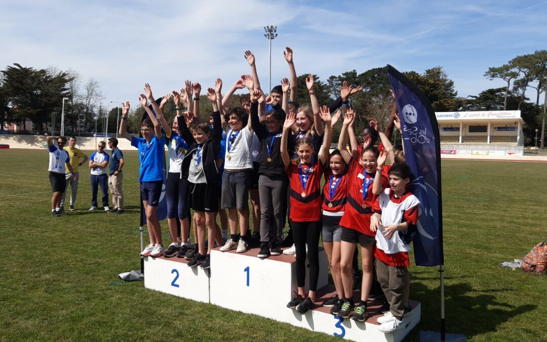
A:
{"label": "green grass field surrounding the white podium", "polygon": [[[139,267],[136,152],[125,153],[121,216],[88,211],[83,168],[77,211],[50,217],[47,151],[1,150],[0,158],[0,340],[335,340],[119,281],[118,273]],[[547,240],[546,166],[443,161],[447,332],[547,340],[547,276],[498,266]],[[406,340],[417,341],[418,331],[440,329],[439,273],[410,271],[422,317]],[[257,298],[257,311],[261,305]]]}

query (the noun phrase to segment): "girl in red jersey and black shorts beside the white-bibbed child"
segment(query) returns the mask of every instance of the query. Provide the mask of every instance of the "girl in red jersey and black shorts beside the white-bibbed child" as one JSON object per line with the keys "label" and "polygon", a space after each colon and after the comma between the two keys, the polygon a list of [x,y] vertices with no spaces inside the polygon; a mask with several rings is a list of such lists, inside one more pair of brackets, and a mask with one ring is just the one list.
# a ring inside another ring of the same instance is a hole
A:
{"label": "girl in red jersey and black shorts beside the white-bibbed child", "polygon": [[[352,319],[364,321],[366,318],[366,301],[373,282],[373,259],[376,232],[370,229],[370,217],[373,214],[372,207],[377,195],[373,194],[373,182],[381,182],[387,187],[387,177],[376,176],[377,158],[379,151],[374,146],[363,149],[359,160],[353,159],[347,150],[348,130],[353,130],[355,113],[348,110],[344,117],[344,123],[340,132],[338,149],[349,169],[348,196],[344,206],[344,215],[340,220],[342,226],[340,244],[340,268],[342,286],[344,287],[344,303],[337,316],[348,318],[355,312]],[[363,280],[361,284],[360,303],[356,306],[353,302],[352,288],[352,258],[357,243],[361,246],[361,263],[363,268]]]}

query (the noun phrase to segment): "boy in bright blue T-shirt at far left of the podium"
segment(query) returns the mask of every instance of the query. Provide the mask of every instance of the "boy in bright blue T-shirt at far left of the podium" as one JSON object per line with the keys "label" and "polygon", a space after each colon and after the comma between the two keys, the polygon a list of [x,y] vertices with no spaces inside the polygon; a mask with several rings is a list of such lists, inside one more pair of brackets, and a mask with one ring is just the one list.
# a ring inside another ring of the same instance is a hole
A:
{"label": "boy in bright blue T-shirt at far left of the podium", "polygon": [[[142,138],[129,134],[126,129],[127,115],[129,114],[129,101],[123,106],[119,134],[131,141],[131,146],[138,148],[139,152],[139,182],[141,182],[141,199],[146,211],[146,224],[150,244],[144,248],[142,256],[159,257],[164,254],[164,246],[161,240],[161,227],[158,221],[157,211],[163,186],[162,166],[165,159],[165,137],[161,135],[160,122],[156,115],[148,108],[148,100],[152,103],[154,112],[161,119],[163,114],[154,101],[150,85],[145,84],[146,96],[141,94],[139,102],[148,113],[149,119],[141,123]],[[148,97],[148,100],[147,100]],[[168,127],[170,129],[170,127]]]}

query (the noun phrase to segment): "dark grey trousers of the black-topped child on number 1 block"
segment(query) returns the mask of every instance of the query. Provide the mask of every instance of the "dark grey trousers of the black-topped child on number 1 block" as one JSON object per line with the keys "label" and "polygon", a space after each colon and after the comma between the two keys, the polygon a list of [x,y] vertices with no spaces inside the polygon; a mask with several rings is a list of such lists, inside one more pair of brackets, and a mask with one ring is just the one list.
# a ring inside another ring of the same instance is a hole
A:
{"label": "dark grey trousers of the black-topped child on number 1 block", "polygon": [[285,176],[260,175],[258,178],[260,242],[283,240],[283,205],[287,198],[287,183]]}

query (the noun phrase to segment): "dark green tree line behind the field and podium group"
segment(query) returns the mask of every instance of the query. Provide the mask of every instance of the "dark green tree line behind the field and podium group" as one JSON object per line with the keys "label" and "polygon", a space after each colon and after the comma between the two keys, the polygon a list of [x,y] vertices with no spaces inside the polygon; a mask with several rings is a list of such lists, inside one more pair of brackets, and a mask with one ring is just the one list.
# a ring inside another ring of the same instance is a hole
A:
{"label": "dark green tree line behind the field and podium group", "polygon": [[[432,67],[423,73],[408,71],[404,74],[429,98],[434,111],[521,110],[522,118],[526,123],[523,130],[527,143],[533,141],[535,130],[540,124],[542,125],[541,136],[544,136],[545,109],[539,104],[539,98],[542,92],[547,93],[546,50],[516,56],[503,66],[488,68],[485,77],[502,79],[507,85],[486,89],[478,95],[467,98],[458,97],[453,81],[441,66]],[[356,121],[357,130],[362,129],[370,119],[387,121],[392,98],[389,94],[391,86],[385,67],[373,68],[363,73],[352,70],[338,76],[330,76],[326,80],[322,80],[317,75],[313,76],[315,93],[321,104],[327,104],[339,96],[340,85],[344,80],[356,86],[363,86],[362,92],[351,97],[351,106],[359,114]],[[310,102],[305,83],[306,77],[307,74],[298,77],[296,101],[300,105],[308,105]],[[229,80],[225,80],[225,84],[228,83]],[[536,91],[535,103],[529,102],[530,99],[526,97],[528,88]],[[240,96],[232,97],[232,106],[238,105]],[[48,130],[48,125],[51,125],[53,118],[54,129],[57,130],[60,127],[63,97],[68,98],[65,101],[65,131],[104,131],[106,108],[101,104],[104,96],[96,80],[89,79],[83,83],[82,76],[70,69],[67,71],[56,67],[35,69],[23,67],[18,63],[0,71],[0,125],[4,127],[5,123],[22,124],[25,120],[31,120],[37,131],[44,132]],[[204,119],[208,119],[211,109],[208,101],[200,102],[200,112]],[[117,106],[109,111],[108,132],[115,132],[117,113]],[[52,114],[57,115],[52,116]],[[131,132],[138,131],[142,114],[142,108],[132,110],[128,121],[128,129]],[[166,103],[164,114],[167,119],[174,118],[172,100]],[[95,118],[103,118],[97,120],[96,130]],[[543,138],[541,146],[543,147]]]}

